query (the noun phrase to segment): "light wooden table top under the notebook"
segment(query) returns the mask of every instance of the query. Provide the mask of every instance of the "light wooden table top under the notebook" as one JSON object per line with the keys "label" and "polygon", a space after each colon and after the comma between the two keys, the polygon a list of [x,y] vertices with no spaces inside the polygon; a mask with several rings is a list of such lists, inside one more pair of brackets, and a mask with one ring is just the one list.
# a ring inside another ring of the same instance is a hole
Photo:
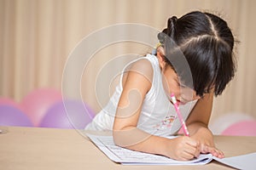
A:
{"label": "light wooden table top under the notebook", "polygon": [[[0,134],[0,169],[231,169],[217,161],[198,166],[124,166],[110,161],[74,129],[5,127]],[[256,137],[214,136],[225,156],[256,152]]]}

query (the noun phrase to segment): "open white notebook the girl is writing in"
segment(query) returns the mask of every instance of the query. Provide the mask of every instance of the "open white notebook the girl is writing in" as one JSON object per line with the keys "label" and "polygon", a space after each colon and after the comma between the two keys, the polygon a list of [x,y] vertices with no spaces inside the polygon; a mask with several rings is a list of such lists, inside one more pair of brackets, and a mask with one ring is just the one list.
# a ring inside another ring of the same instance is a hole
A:
{"label": "open white notebook the girl is writing in", "polygon": [[211,154],[201,154],[201,156],[191,161],[176,161],[166,156],[158,156],[121,148],[113,143],[112,136],[93,134],[87,134],[87,136],[110,160],[124,165],[204,165],[212,160],[216,160],[238,169],[254,169],[256,166],[256,152],[223,159],[219,159]]}

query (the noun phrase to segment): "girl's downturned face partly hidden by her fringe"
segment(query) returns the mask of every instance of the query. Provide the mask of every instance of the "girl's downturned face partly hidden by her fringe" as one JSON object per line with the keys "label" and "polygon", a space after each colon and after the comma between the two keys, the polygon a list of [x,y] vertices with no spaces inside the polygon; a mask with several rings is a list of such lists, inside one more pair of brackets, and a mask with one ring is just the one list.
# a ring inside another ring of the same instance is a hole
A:
{"label": "girl's downturned face partly hidden by her fringe", "polygon": [[196,95],[195,90],[188,88],[179,81],[177,74],[173,71],[170,65],[165,65],[162,68],[162,82],[166,90],[167,96],[170,98],[173,93],[177,99],[178,105],[185,105],[186,103],[201,97]]}

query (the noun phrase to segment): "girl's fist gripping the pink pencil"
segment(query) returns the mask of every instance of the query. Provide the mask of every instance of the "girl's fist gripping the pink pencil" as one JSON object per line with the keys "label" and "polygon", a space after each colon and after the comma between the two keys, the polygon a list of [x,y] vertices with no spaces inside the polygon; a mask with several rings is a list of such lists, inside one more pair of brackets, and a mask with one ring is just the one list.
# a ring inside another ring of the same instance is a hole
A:
{"label": "girl's fist gripping the pink pencil", "polygon": [[166,156],[180,161],[191,160],[198,157],[201,152],[201,145],[199,142],[187,136],[169,139],[166,146]]}

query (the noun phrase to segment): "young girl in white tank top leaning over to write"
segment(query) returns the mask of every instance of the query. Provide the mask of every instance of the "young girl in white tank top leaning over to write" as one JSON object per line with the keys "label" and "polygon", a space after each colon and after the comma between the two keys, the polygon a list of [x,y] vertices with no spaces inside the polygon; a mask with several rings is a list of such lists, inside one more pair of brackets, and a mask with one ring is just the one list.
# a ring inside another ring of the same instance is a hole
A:
{"label": "young girl in white tank top leaning over to write", "polygon": [[[108,105],[85,129],[113,130],[114,143],[121,147],[176,160],[201,153],[224,157],[207,126],[213,96],[222,94],[236,70],[230,28],[214,14],[195,11],[170,18],[158,39],[155,54],[125,67]],[[189,137],[166,138],[181,127],[171,94]]]}

